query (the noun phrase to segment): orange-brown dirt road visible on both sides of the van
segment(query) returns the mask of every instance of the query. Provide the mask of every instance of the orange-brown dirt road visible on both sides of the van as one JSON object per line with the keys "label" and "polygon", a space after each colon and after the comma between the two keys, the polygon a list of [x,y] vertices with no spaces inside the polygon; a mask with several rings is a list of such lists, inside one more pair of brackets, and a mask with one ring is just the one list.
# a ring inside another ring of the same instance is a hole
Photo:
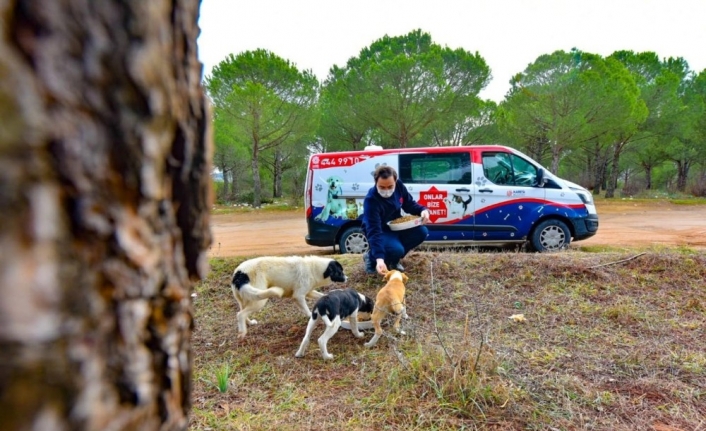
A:
{"label": "orange-brown dirt road visible on both sides of the van", "polygon": [[[669,202],[599,202],[598,233],[580,246],[688,246],[706,249],[706,206]],[[304,241],[304,211],[252,211],[211,217],[211,257],[330,254]]]}

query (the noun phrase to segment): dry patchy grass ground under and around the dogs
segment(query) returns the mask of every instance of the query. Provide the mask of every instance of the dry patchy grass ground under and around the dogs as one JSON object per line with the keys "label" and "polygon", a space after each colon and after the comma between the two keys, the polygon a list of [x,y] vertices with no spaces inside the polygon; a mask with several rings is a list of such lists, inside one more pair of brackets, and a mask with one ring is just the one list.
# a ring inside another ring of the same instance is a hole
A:
{"label": "dry patchy grass ground under and around the dogs", "polygon": [[[374,297],[381,279],[360,256],[334,257]],[[316,342],[294,357],[306,318],[287,299],[237,340],[229,282],[242,260],[212,259],[195,286],[190,429],[706,428],[703,251],[415,252],[407,335],[386,326],[367,349],[370,331],[340,330],[332,361]],[[223,364],[227,391],[209,383]]]}

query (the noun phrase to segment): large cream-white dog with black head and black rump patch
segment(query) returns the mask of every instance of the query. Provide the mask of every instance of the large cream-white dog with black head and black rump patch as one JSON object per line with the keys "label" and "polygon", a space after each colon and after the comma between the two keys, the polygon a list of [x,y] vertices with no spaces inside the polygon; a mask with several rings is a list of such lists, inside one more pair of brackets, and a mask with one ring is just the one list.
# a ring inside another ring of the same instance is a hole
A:
{"label": "large cream-white dog with black head and black rump patch", "polygon": [[246,260],[233,272],[231,288],[240,305],[238,338],[244,338],[250,320],[270,298],[291,297],[307,316],[311,317],[306,298],[319,299],[323,293],[314,289],[332,281],[345,283],[343,266],[336,260],[321,256],[258,257]]}

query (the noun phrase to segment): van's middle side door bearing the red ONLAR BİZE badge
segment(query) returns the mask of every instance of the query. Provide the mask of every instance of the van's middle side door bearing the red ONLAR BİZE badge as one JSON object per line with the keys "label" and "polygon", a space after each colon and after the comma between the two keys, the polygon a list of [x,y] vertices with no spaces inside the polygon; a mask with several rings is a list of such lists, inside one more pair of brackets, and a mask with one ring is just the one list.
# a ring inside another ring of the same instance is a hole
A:
{"label": "van's middle side door bearing the red ONLAR B\u0130ZE badge", "polygon": [[429,209],[427,241],[473,240],[473,172],[465,149],[402,153],[399,175],[409,192]]}

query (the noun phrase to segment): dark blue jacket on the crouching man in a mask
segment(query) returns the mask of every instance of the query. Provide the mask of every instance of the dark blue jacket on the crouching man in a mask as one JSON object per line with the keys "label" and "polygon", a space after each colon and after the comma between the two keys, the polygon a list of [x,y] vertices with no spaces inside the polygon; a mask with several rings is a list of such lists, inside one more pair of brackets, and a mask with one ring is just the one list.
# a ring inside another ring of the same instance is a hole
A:
{"label": "dark blue jacket on the crouching man in a mask", "polygon": [[390,232],[387,222],[401,217],[400,209],[407,214],[420,215],[427,208],[414,200],[400,180],[395,183],[395,192],[389,198],[380,196],[375,186],[368,190],[363,200],[363,232],[368,238],[373,260],[385,258],[382,233]]}

